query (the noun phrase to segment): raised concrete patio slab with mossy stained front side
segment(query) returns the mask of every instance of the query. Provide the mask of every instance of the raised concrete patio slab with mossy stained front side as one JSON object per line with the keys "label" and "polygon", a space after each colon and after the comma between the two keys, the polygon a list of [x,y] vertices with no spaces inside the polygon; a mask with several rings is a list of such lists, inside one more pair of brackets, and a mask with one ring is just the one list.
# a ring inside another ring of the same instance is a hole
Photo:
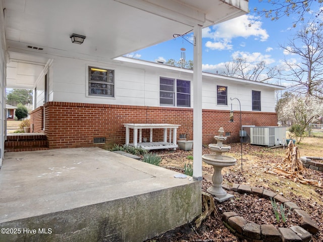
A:
{"label": "raised concrete patio slab with mossy stained front side", "polygon": [[200,182],[174,174],[100,148],[6,153],[0,241],[143,241],[201,212]]}

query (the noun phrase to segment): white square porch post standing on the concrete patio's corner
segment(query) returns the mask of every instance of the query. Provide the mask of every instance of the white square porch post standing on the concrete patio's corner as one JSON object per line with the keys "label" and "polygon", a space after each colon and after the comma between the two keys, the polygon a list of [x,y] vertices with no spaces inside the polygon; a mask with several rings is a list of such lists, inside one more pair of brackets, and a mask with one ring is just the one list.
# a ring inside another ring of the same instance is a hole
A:
{"label": "white square porch post standing on the concrete patio's corner", "polygon": [[193,31],[193,179],[202,180],[202,26]]}

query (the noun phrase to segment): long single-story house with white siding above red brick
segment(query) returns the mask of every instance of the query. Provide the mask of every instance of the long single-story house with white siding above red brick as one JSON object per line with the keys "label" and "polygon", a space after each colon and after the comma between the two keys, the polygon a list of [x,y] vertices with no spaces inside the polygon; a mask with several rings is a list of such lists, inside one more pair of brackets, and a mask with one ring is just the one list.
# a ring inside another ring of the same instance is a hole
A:
{"label": "long single-story house with white siding above red brick", "polygon": [[[124,123],[176,124],[181,125],[178,138],[187,127],[193,136],[192,70],[126,57],[105,64],[60,57],[48,71],[55,73],[49,81],[49,86],[57,87],[50,90],[55,101],[42,104],[43,82],[38,82],[31,123],[33,132],[44,130],[50,148],[124,144]],[[231,103],[236,112],[240,107],[230,98],[241,101],[242,125],[277,126],[275,91],[282,89],[203,73],[203,144],[214,142],[220,127],[229,142],[239,141],[239,115],[230,123],[229,112]],[[95,138],[105,138],[105,144],[95,144]]]}

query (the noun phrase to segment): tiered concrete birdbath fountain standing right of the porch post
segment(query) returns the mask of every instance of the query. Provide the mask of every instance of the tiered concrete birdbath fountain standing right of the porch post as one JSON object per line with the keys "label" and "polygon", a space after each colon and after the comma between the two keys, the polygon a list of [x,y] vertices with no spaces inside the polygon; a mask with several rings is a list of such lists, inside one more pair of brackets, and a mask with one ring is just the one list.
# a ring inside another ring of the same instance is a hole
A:
{"label": "tiered concrete birdbath fountain standing right of the porch post", "polygon": [[224,145],[223,141],[227,140],[227,137],[223,136],[224,130],[221,127],[219,130],[219,136],[214,136],[217,144],[209,144],[208,147],[210,150],[216,152],[216,154],[205,154],[202,155],[202,161],[206,164],[212,165],[214,168],[214,173],[212,176],[212,186],[207,189],[207,192],[215,196],[219,202],[226,201],[232,197],[231,194],[227,194],[227,192],[222,188],[222,168],[227,166],[235,165],[237,160],[233,157],[222,155],[223,153],[228,152],[231,147],[229,145]]}

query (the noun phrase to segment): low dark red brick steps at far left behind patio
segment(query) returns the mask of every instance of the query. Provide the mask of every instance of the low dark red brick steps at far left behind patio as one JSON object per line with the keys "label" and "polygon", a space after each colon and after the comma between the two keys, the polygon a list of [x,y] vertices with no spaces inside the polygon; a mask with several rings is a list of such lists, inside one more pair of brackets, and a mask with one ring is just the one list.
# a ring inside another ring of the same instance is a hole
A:
{"label": "low dark red brick steps at far left behind patio", "polygon": [[48,141],[44,134],[26,133],[7,135],[5,152],[47,150]]}

